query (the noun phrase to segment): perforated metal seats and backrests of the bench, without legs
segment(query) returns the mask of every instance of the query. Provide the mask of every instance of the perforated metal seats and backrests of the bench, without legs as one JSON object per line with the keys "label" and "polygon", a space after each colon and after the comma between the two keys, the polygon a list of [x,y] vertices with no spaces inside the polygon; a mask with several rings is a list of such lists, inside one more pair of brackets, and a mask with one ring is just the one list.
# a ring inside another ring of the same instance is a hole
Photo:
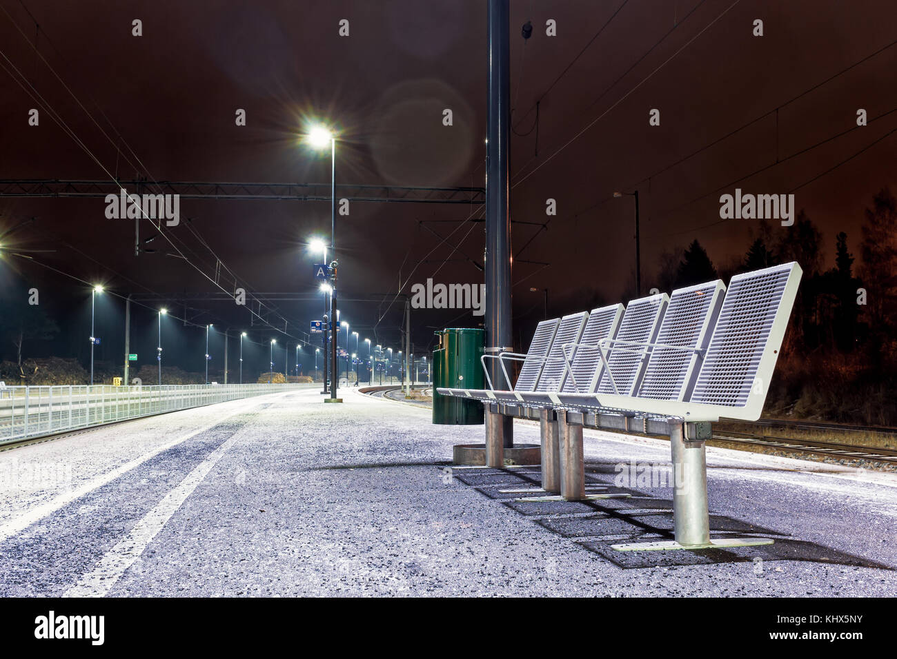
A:
{"label": "perforated metal seats and backrests of the bench, without legs", "polygon": [[[607,321],[614,314],[619,318],[622,305],[584,312],[588,321],[582,338],[568,342],[564,336],[543,353],[556,357],[560,351],[566,360],[550,389],[438,391],[525,407],[755,421],[801,274],[797,263],[782,264],[736,275],[728,290],[716,281],[675,290],[669,298],[633,300],[615,334],[613,320]],[[598,318],[603,319],[603,333]],[[599,344],[600,351],[595,347]],[[543,364],[548,363],[545,358]],[[556,376],[557,362],[551,363]]]}

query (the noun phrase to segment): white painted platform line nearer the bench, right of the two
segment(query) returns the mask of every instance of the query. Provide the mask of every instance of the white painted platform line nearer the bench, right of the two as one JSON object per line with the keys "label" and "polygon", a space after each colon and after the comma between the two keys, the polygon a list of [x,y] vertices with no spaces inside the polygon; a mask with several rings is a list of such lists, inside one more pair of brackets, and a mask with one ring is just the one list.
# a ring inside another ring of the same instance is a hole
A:
{"label": "white painted platform line nearer the bench, right of the two", "polygon": [[156,534],[236,441],[237,435],[234,435],[210,453],[202,463],[196,465],[194,470],[187,474],[187,478],[166,494],[156,507],[137,522],[131,533],[107,551],[94,568],[81,577],[77,584],[65,591],[63,596],[102,597],[109,593],[109,589],[125,574],[126,569],[140,558]]}

